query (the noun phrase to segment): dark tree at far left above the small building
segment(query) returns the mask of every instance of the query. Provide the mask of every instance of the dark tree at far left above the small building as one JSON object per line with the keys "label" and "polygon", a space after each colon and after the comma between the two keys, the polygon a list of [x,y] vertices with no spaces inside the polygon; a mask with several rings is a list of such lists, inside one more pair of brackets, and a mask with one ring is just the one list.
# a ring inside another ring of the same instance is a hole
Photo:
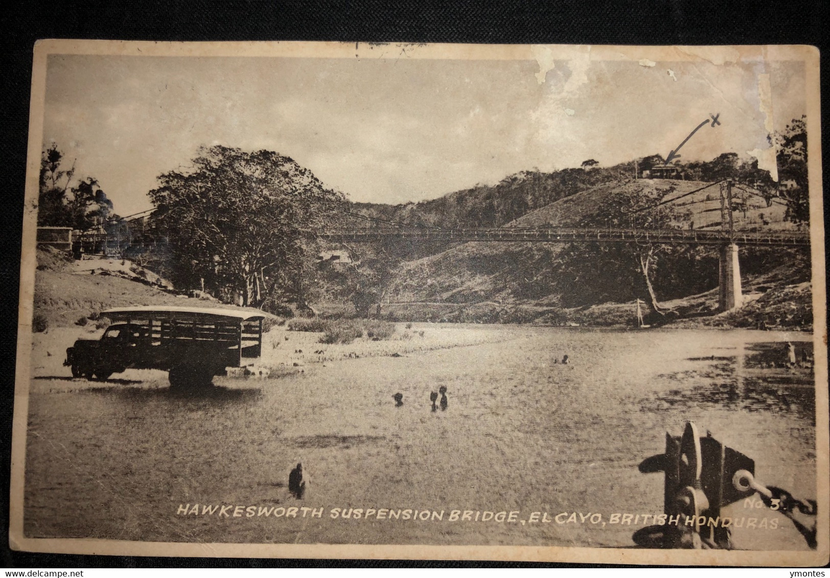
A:
{"label": "dark tree at far left above the small building", "polygon": [[[111,216],[112,202],[98,181],[86,177],[70,187],[75,176],[75,162],[62,169],[63,153],[56,144],[46,148],[41,156],[41,172],[37,198],[39,226],[71,226],[85,231],[96,223],[103,224]],[[67,193],[71,193],[67,194]]]}

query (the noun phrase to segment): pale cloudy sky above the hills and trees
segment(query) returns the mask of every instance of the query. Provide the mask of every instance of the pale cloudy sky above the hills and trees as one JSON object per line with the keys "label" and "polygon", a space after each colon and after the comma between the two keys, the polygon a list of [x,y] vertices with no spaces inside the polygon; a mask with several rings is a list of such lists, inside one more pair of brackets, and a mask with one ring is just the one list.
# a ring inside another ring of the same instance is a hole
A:
{"label": "pale cloudy sky above the hills and trees", "polygon": [[[122,216],[200,146],[268,149],[355,202],[402,203],[523,170],[762,155],[804,114],[800,64],[750,61],[49,57],[43,148]],[[767,76],[769,75],[769,76]],[[760,92],[769,82],[770,99]],[[764,104],[764,105],[762,105]]]}

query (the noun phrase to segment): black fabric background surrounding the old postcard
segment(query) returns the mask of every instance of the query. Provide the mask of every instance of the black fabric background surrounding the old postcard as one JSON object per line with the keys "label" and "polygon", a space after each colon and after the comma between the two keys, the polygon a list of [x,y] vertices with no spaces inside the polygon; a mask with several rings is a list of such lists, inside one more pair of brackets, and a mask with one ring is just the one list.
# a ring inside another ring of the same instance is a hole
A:
{"label": "black fabric background surrounding the old postcard", "polygon": [[[170,4],[170,5],[168,5]],[[0,566],[538,566],[492,562],[303,561],[64,556],[7,546],[17,286],[32,46],[38,38],[222,41],[419,41],[558,44],[811,44],[824,51],[825,0],[559,0],[554,2],[12,1],[0,23]],[[827,74],[822,94],[828,95]],[[826,98],[823,98],[826,103]],[[825,118],[827,117],[827,107]],[[828,151],[823,122],[823,150]],[[810,138],[815,138],[810,135]],[[825,153],[826,155],[826,153]],[[811,159],[812,160],[812,159]],[[818,159],[816,159],[818,160]],[[827,163],[824,163],[827,166]],[[825,182],[826,182],[825,178]],[[821,425],[819,425],[821,426]],[[824,425],[827,426],[826,424]],[[546,565],[569,566],[569,565]]]}

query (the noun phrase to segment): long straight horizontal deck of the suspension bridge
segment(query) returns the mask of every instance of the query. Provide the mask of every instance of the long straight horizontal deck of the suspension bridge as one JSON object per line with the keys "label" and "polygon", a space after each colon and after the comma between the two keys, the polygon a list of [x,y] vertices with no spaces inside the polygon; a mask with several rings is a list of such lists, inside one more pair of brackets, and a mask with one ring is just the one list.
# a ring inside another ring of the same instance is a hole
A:
{"label": "long straight horizontal deck of the suspension bridge", "polygon": [[333,231],[318,235],[321,239],[368,243],[384,239],[502,241],[534,243],[569,243],[599,241],[610,243],[663,243],[671,245],[783,245],[810,244],[808,231],[701,231],[687,229],[576,229],[550,227],[545,229],[363,229]]}

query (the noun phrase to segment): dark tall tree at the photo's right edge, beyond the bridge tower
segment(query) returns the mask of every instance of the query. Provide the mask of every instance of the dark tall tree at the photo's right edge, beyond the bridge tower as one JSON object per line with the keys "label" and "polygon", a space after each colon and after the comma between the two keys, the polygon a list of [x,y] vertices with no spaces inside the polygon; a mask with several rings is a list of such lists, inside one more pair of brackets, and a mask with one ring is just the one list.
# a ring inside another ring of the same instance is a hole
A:
{"label": "dark tall tree at the photo's right edge, beyond the bridge tower", "polygon": [[792,180],[793,189],[782,191],[787,202],[784,219],[803,223],[810,219],[810,194],[807,177],[807,123],[806,116],[793,119],[781,133],[770,137],[776,148],[779,182]]}

